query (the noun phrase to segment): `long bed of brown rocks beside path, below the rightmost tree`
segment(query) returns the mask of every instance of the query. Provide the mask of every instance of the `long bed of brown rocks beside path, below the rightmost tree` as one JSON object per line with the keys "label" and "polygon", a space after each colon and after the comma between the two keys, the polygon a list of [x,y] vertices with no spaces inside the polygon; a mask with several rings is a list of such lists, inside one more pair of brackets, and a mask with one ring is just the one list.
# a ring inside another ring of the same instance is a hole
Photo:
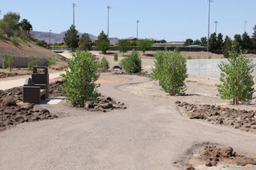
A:
{"label": "long bed of brown rocks beside path, below the rightmost tree", "polygon": [[198,105],[175,102],[183,115],[212,124],[233,127],[246,132],[256,132],[256,115],[253,110],[232,109],[215,105]]}

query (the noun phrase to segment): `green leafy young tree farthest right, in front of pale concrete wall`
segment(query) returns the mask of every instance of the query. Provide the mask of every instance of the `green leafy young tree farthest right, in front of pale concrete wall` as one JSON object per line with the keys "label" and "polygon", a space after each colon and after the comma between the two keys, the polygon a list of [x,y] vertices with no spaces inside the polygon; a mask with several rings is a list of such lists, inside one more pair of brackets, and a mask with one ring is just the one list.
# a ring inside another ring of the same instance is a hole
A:
{"label": "green leafy young tree farthest right, in front of pale concrete wall", "polygon": [[224,100],[231,100],[230,103],[238,105],[241,103],[250,103],[254,99],[252,95],[255,90],[253,88],[254,76],[251,73],[254,70],[254,64],[251,64],[251,59],[246,58],[242,53],[233,51],[230,52],[228,58],[230,63],[218,65],[221,69],[222,84],[216,85],[218,87],[217,96]]}

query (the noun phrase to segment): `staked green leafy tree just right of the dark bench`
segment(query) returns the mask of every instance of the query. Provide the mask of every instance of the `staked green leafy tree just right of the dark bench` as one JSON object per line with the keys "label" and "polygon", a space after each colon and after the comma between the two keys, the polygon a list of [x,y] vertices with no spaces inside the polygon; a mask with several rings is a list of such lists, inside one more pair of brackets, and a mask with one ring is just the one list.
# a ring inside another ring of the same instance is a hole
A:
{"label": "staked green leafy tree just right of the dark bench", "polygon": [[[73,58],[69,58],[69,67],[66,68],[66,74],[61,74],[63,77],[62,91],[66,92],[66,100],[70,101],[75,106],[83,105],[85,101],[99,100],[100,94],[96,88],[96,80],[99,79],[99,74],[96,73],[98,63],[93,60],[93,55],[89,52],[80,52],[77,50],[73,54]],[[84,61],[84,92],[83,92],[83,61]]]}

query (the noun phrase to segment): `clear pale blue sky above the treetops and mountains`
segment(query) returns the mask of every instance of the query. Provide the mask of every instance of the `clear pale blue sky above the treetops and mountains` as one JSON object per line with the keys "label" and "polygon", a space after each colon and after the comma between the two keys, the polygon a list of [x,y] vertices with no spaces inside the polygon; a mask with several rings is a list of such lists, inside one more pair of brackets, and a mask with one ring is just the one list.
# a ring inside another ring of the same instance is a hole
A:
{"label": "clear pale blue sky above the treetops and mountains", "polygon": [[[210,34],[252,35],[256,25],[256,0],[0,0],[3,18],[5,13],[20,13],[28,19],[33,31],[59,34],[73,24],[72,3],[75,7],[75,26],[81,33],[98,36],[103,30],[109,37],[136,37],[137,20],[139,38],[157,38],[167,41],[192,40]],[[109,27],[108,27],[108,6]],[[247,23],[245,23],[245,20]]]}

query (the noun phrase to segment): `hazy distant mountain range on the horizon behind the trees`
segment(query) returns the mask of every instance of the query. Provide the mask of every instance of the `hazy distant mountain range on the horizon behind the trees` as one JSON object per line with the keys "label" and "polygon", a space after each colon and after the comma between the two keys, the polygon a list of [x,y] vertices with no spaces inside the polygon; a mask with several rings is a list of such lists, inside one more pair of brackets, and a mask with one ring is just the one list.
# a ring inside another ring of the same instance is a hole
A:
{"label": "hazy distant mountain range on the horizon behind the trees", "polygon": [[[53,43],[61,43],[63,40],[63,37],[65,37],[66,31],[63,31],[60,34],[55,34],[55,33],[50,33],[50,32],[42,32],[42,31],[30,31],[30,34],[34,35],[38,40],[44,40],[44,42],[51,42]],[[81,32],[78,32],[79,36],[81,37],[82,34]],[[89,37],[96,37],[93,34],[89,34]]]}

